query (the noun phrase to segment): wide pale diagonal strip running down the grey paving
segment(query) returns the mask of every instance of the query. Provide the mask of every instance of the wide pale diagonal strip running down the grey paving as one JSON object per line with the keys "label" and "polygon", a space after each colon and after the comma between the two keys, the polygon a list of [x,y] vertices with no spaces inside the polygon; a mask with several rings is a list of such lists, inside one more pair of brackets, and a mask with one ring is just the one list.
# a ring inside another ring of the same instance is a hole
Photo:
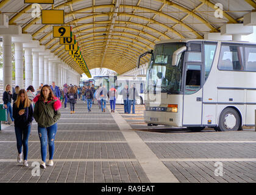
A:
{"label": "wide pale diagonal strip running down the grey paving", "polygon": [[[110,110],[109,106],[107,106]],[[178,183],[179,180],[172,174],[172,172],[163,164],[159,158],[151,151],[151,149],[144,143],[138,134],[132,130],[126,120],[119,115],[114,113],[114,119],[120,131],[123,133],[124,138],[132,149],[133,154],[137,158],[141,167],[143,168],[149,181],[152,183]]]}

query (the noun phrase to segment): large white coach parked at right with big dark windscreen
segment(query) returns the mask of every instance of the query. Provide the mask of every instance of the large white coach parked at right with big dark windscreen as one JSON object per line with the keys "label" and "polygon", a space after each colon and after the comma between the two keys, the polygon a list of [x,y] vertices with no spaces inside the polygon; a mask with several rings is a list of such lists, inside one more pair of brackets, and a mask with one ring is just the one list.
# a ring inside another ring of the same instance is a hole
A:
{"label": "large white coach parked at right with big dark windscreen", "polygon": [[192,131],[254,126],[256,43],[165,40],[150,53],[144,111],[148,126]]}

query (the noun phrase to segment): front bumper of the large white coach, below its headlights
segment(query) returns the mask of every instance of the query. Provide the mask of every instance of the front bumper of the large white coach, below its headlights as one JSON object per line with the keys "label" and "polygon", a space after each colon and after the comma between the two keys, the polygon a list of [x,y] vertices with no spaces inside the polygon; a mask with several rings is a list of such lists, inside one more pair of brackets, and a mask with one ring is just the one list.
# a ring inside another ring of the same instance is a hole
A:
{"label": "front bumper of the large white coach, below its headlights", "polygon": [[150,124],[182,127],[181,118],[179,113],[144,111],[144,122]]}

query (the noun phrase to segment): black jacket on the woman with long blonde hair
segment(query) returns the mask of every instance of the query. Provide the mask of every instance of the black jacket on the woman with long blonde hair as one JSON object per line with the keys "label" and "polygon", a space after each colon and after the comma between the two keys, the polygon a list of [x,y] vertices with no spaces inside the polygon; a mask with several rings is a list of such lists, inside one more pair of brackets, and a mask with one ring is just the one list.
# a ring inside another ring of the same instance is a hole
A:
{"label": "black jacket on the woman with long blonde hair", "polygon": [[[25,113],[23,115],[19,115],[19,112],[22,109],[25,109]],[[20,103],[18,108],[16,107],[16,104],[13,104],[12,116],[14,119],[14,125],[18,127],[27,127],[31,125],[31,122],[34,120],[33,113],[33,104],[30,104],[27,108],[24,108],[24,104],[22,103]]]}

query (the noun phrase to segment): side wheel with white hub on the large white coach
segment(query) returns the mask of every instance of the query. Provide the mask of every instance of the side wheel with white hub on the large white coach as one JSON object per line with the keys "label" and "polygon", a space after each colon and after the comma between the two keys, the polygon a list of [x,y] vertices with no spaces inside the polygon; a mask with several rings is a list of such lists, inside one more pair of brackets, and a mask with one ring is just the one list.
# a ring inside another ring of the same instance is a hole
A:
{"label": "side wheel with white hub on the large white coach", "polygon": [[216,131],[224,132],[229,130],[239,130],[241,124],[240,116],[233,108],[226,108],[219,116],[219,126]]}

